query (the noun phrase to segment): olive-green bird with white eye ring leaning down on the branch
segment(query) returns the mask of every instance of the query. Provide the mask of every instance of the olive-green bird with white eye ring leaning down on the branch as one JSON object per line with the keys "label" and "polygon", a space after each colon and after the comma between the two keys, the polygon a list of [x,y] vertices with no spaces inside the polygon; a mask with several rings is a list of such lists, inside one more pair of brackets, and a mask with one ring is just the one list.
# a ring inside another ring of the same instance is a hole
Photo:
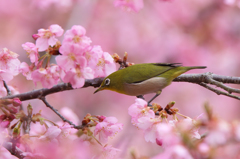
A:
{"label": "olive-green bird with white eye ring leaning down on the branch", "polygon": [[135,64],[107,76],[94,93],[105,89],[137,97],[156,93],[148,102],[150,103],[161,94],[163,88],[170,85],[172,80],[179,75],[192,69],[204,68],[206,66],[185,67],[179,63]]}

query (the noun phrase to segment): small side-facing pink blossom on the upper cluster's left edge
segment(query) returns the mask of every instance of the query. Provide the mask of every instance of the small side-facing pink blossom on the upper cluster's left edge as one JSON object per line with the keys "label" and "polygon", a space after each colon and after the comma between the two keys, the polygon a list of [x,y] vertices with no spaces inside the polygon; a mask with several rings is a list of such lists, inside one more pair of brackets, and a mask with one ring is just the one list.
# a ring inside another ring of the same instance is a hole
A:
{"label": "small side-facing pink blossom on the upper cluster's left edge", "polygon": [[22,44],[22,47],[25,51],[27,51],[30,61],[32,63],[35,63],[35,65],[37,65],[39,54],[38,54],[38,48],[36,47],[36,45],[30,42],[26,42],[25,44]]}

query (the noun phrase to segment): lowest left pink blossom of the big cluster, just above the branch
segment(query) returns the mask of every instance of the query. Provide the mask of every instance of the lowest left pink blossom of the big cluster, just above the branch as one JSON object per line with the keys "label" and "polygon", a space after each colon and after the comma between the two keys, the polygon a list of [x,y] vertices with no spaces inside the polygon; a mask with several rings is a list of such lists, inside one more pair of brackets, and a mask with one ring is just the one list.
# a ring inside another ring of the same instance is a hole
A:
{"label": "lowest left pink blossom of the big cluster, just above the branch", "polygon": [[51,88],[60,80],[59,67],[53,65],[48,68],[40,68],[32,72],[32,79],[34,83],[41,82],[44,88]]}

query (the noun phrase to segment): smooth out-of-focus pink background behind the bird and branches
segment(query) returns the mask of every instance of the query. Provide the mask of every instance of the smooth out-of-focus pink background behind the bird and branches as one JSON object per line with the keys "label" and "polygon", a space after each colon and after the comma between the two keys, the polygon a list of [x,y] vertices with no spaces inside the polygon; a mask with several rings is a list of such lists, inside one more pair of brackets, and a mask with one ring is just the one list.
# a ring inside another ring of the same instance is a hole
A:
{"label": "smooth out-of-focus pink background behind the bird and branches", "polygon": [[[137,1],[137,0],[136,0]],[[185,66],[207,66],[205,70],[188,73],[213,72],[219,75],[240,76],[240,9],[234,0],[144,0],[138,12],[114,6],[113,0],[0,0],[0,48],[18,53],[20,60],[29,62],[22,49],[25,42],[34,42],[32,34],[40,28],[59,24],[64,30],[82,25],[93,45],[100,45],[110,54],[123,56],[133,63],[177,62]],[[54,59],[53,61],[54,62]],[[22,75],[11,85],[20,93],[37,87]],[[231,85],[240,88],[238,85]],[[60,92],[47,96],[55,108],[71,108],[79,120],[92,115],[115,116],[124,130],[110,141],[121,149],[120,156],[154,156],[161,147],[146,143],[140,130],[131,124],[128,107],[135,97],[94,88]],[[149,99],[152,95],[146,96]],[[173,82],[155,102],[161,106],[176,101],[180,113],[192,118],[204,113],[204,103],[224,120],[240,118],[239,101],[219,96],[191,83]],[[60,120],[38,100],[24,102],[33,105],[34,112],[42,110],[50,120]]]}

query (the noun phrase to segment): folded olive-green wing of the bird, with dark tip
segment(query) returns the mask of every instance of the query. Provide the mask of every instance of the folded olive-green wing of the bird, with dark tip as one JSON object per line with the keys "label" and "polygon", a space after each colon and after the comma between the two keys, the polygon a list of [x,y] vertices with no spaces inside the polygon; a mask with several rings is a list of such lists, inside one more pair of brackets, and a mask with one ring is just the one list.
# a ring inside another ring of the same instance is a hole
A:
{"label": "folded olive-green wing of the bird, with dark tip", "polygon": [[129,84],[140,83],[152,77],[159,76],[162,73],[167,72],[179,66],[181,66],[179,63],[135,64],[125,68],[126,74],[123,78],[125,78],[124,81],[126,81],[126,83],[129,83]]}

